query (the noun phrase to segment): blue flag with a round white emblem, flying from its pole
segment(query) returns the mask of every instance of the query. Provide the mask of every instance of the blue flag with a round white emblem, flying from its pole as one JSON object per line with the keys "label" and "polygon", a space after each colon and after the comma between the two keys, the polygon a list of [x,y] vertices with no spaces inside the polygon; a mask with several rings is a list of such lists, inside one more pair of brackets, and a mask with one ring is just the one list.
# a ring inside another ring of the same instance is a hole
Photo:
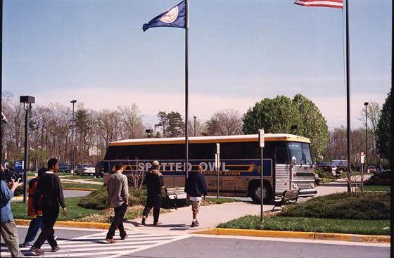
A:
{"label": "blue flag with a round white emblem, flying from its pole", "polygon": [[180,27],[186,28],[186,0],[180,2],[177,6],[161,13],[153,18],[150,22],[142,26],[144,32],[151,27]]}

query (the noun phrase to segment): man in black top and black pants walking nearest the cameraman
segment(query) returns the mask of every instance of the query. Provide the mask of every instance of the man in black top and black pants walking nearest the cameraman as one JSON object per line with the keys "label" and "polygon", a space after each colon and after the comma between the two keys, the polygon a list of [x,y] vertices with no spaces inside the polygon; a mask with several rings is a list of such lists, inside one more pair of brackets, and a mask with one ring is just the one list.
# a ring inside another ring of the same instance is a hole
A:
{"label": "man in black top and black pants walking nearest the cameraman", "polygon": [[59,205],[63,208],[63,214],[67,213],[63,189],[61,187],[61,179],[59,179],[59,176],[56,174],[59,169],[58,160],[55,158],[48,160],[48,169],[49,171],[40,176],[37,181],[37,191],[39,191],[42,196],[42,223],[44,224],[44,228],[39,234],[39,237],[30,248],[30,251],[37,255],[44,255],[41,247],[45,240],[51,245],[52,252],[61,250],[61,247],[58,246],[58,243],[53,237],[55,233],[53,226],[55,226],[56,219],[58,219]]}

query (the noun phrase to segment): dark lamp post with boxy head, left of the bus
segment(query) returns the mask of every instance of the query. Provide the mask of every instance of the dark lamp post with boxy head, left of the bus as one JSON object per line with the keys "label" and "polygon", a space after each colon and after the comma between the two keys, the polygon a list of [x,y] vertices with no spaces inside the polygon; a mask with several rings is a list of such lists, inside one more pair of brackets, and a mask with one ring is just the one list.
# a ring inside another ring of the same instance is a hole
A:
{"label": "dark lamp post with boxy head, left of the bus", "polygon": [[27,168],[29,167],[29,114],[32,110],[32,104],[35,98],[32,96],[20,96],[20,103],[23,103],[25,110],[25,165],[23,167],[23,202],[26,202],[27,196]]}

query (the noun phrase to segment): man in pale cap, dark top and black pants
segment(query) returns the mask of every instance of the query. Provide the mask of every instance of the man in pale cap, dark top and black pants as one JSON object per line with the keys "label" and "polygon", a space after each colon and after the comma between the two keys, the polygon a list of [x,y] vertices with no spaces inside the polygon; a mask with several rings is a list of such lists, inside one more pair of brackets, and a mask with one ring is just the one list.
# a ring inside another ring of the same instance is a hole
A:
{"label": "man in pale cap, dark top and black pants", "polygon": [[146,224],[146,218],[153,207],[153,225],[160,225],[163,222],[159,221],[160,206],[161,206],[161,191],[164,188],[163,175],[159,171],[160,164],[157,160],[152,163],[153,169],[148,171],[145,176],[146,189],[148,196],[146,197],[146,205],[144,212],[142,212],[141,224]]}

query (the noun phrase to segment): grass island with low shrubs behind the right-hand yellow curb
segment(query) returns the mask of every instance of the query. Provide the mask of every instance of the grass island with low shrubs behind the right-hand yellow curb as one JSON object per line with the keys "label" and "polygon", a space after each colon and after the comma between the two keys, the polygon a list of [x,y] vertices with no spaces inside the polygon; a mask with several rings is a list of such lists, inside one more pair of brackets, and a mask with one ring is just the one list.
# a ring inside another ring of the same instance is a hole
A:
{"label": "grass island with low shrubs behind the right-hand yellow curb", "polygon": [[245,216],[218,228],[390,236],[390,192],[334,193],[288,205],[280,212]]}

